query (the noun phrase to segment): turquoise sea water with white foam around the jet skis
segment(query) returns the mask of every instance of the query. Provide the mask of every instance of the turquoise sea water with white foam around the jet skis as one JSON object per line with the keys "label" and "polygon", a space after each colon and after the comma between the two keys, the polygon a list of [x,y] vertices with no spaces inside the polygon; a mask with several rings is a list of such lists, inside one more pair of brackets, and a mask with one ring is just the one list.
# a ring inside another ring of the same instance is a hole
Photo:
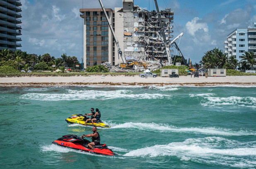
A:
{"label": "turquoise sea water with white foam around the jet skis", "polygon": [[[99,108],[115,157],[63,148]],[[0,168],[255,168],[256,87],[0,88]]]}

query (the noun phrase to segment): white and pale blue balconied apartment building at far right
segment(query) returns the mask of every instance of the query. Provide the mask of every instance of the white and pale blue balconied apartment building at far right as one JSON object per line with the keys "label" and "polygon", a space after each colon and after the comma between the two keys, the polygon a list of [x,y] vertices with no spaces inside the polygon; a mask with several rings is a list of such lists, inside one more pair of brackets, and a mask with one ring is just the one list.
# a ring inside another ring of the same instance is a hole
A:
{"label": "white and pale blue balconied apartment building at far right", "polygon": [[239,62],[244,52],[255,52],[256,54],[256,22],[247,28],[237,28],[229,33],[224,41],[224,53],[228,57],[234,56]]}

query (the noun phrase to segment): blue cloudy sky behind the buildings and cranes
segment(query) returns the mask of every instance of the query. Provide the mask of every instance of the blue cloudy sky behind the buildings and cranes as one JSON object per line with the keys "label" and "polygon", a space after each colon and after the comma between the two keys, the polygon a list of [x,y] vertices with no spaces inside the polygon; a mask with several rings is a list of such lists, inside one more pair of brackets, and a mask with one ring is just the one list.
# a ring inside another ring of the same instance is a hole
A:
{"label": "blue cloudy sky behind the buildings and cranes", "polygon": [[[101,8],[98,0],[21,0],[22,51],[63,53],[82,58],[82,18],[79,9]],[[122,7],[123,0],[102,0],[105,8]],[[256,22],[256,0],[157,0],[159,10],[174,11],[174,38],[185,59],[199,62],[215,47],[224,50],[224,40],[236,28]],[[154,0],[134,0],[134,5],[155,10]],[[173,54],[179,55],[175,48]]]}

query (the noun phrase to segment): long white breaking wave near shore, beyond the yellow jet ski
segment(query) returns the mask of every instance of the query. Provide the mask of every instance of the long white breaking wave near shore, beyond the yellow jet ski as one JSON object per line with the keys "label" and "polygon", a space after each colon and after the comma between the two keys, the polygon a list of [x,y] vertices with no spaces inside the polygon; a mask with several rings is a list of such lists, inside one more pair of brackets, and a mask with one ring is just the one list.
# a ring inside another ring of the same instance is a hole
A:
{"label": "long white breaking wave near shore, beyond the yellow jet ski", "polygon": [[167,94],[133,94],[130,90],[98,91],[98,90],[68,90],[65,94],[28,93],[20,96],[20,99],[61,101],[61,100],[107,100],[107,99],[170,99]]}

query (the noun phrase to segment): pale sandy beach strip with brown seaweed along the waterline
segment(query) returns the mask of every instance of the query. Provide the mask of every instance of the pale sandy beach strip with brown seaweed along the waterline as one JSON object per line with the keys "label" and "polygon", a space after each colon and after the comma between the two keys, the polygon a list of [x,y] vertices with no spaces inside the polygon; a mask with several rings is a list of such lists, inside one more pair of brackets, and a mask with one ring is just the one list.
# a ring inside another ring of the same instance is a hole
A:
{"label": "pale sandy beach strip with brown seaweed along the waterline", "polygon": [[40,86],[80,86],[80,85],[181,85],[181,86],[216,86],[216,85],[249,85],[256,86],[256,76],[226,76],[226,77],[191,77],[180,76],[148,77],[125,75],[90,75],[72,77],[1,77],[0,87],[40,87]]}

